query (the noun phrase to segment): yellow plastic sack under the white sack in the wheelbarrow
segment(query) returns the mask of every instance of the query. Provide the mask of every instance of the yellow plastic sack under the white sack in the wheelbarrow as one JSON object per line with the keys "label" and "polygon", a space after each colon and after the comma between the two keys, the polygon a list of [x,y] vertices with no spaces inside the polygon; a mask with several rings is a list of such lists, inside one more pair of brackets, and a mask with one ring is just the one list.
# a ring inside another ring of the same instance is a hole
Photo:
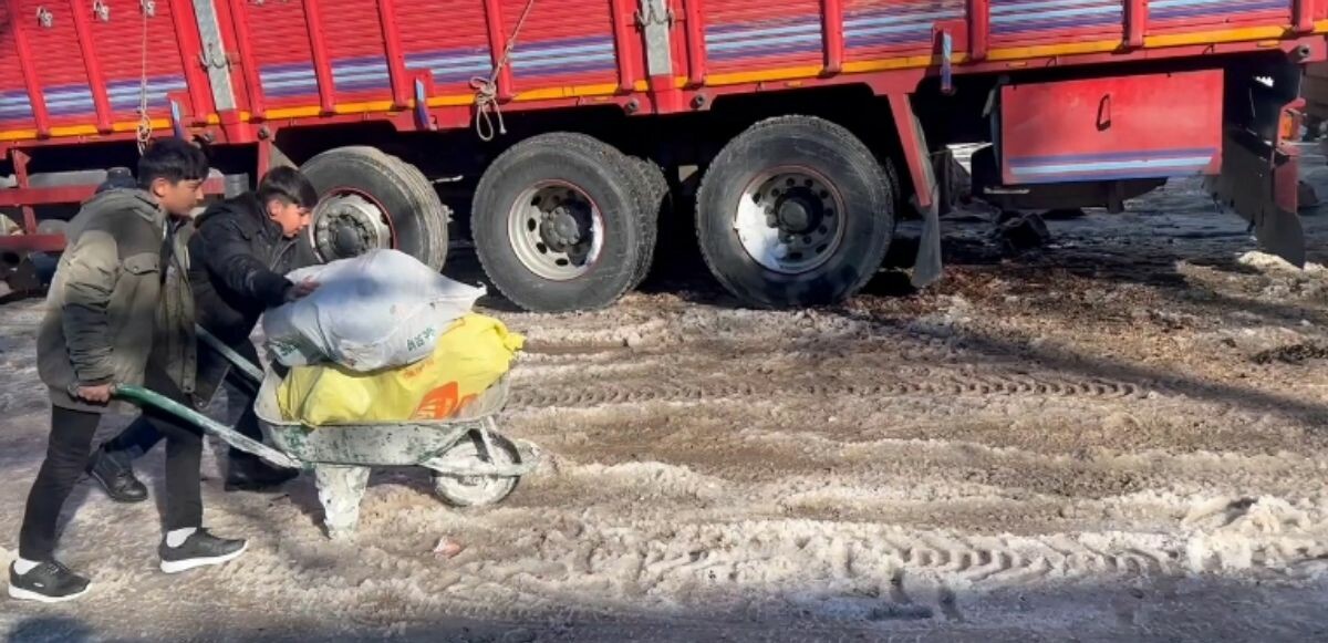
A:
{"label": "yellow plastic sack under the white sack in the wheelbarrow", "polygon": [[295,367],[278,388],[287,421],[308,426],[446,420],[498,381],[525,337],[497,319],[465,315],[433,355],[406,367],[357,373],[335,364]]}

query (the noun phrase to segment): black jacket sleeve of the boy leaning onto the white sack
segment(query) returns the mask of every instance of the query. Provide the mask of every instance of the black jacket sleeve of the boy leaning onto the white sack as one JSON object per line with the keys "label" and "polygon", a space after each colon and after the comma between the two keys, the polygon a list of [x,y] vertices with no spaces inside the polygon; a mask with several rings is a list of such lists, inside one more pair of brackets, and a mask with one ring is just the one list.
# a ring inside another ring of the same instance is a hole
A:
{"label": "black jacket sleeve of the boy leaning onto the white sack", "polygon": [[291,282],[272,272],[254,256],[248,240],[238,225],[216,221],[199,226],[194,232],[199,252],[194,260],[203,262],[207,272],[220,278],[232,292],[260,302],[266,308],[286,303]]}

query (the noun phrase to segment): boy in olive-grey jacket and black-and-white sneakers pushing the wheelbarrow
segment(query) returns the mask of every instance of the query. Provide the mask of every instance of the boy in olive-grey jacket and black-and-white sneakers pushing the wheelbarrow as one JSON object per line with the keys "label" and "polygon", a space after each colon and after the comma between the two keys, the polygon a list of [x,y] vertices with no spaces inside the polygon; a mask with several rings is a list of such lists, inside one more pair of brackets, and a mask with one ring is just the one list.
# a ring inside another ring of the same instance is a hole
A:
{"label": "boy in olive-grey jacket and black-and-white sneakers pushing the wheelbarrow", "polygon": [[[56,559],[61,509],[82,476],[101,417],[133,411],[113,399],[117,385],[146,385],[181,404],[198,369],[194,299],[183,236],[202,201],[207,157],[189,142],[154,142],[139,159],[138,185],[97,194],[65,232],[46,315],[37,335],[37,372],[50,392],[46,458],[32,484],[9,566],[9,595],[54,603],[86,594],[90,581]],[[201,432],[145,411],[166,436],[166,513],[157,551],[166,573],[220,565],[246,541],[203,529]]]}

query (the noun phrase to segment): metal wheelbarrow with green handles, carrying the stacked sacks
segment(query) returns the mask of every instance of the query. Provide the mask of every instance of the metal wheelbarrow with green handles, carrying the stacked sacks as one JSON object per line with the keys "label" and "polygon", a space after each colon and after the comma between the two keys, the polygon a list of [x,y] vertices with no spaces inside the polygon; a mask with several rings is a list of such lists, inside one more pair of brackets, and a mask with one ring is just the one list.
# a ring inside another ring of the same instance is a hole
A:
{"label": "metal wheelbarrow with green handles, carrying the stacked sacks", "polygon": [[171,413],[272,465],[312,472],[323,505],[323,525],[332,539],[355,535],[371,468],[430,469],[438,497],[453,506],[469,507],[501,502],[539,464],[538,446],[498,433],[494,416],[507,399],[506,375],[453,418],[307,426],[282,417],[276,403],[279,375],[251,364],[202,328],[199,339],[259,385],[254,411],[274,446],[143,387],[117,387],[116,396],[141,408]]}

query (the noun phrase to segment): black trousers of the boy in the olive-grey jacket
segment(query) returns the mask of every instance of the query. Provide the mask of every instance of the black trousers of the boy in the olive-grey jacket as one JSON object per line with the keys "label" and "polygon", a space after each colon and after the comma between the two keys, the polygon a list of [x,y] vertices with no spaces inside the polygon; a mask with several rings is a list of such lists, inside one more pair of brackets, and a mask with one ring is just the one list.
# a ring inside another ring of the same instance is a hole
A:
{"label": "black trousers of the boy in the olive-grey jacket", "polygon": [[[163,373],[149,371],[145,384],[173,400],[187,404],[185,396]],[[166,515],[167,531],[203,525],[203,498],[199,464],[203,436],[199,429],[157,411],[143,412],[146,421],[166,436]],[[74,485],[88,466],[92,440],[101,414],[52,408],[50,441],[37,481],[28,493],[28,506],[19,533],[19,555],[28,561],[50,561],[56,551],[56,523]]]}

